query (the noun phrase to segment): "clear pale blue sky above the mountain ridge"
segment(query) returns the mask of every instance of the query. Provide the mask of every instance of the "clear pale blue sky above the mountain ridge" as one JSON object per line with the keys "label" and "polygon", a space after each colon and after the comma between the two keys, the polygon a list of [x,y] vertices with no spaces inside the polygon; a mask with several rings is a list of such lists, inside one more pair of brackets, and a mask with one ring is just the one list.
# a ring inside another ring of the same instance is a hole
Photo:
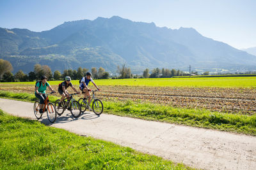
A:
{"label": "clear pale blue sky above the mountain ridge", "polygon": [[45,31],[65,21],[112,17],[193,27],[235,48],[256,46],[254,0],[0,0],[0,27]]}

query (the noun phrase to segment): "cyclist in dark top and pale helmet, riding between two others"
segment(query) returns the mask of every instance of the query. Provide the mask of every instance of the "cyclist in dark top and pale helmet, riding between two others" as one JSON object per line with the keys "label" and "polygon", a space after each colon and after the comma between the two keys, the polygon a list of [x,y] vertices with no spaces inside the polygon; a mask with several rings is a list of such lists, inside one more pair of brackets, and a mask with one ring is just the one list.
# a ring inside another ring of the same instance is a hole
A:
{"label": "cyclist in dark top and pale helmet, riding between two others", "polygon": [[80,92],[77,92],[77,90],[72,85],[70,76],[66,76],[65,81],[60,83],[59,88],[58,88],[58,92],[62,96],[60,99],[60,102],[59,102],[59,106],[61,105],[61,101],[63,101],[65,99],[65,97],[67,97],[67,98],[69,97],[69,94],[67,91],[68,87],[71,87],[77,94],[80,94]]}

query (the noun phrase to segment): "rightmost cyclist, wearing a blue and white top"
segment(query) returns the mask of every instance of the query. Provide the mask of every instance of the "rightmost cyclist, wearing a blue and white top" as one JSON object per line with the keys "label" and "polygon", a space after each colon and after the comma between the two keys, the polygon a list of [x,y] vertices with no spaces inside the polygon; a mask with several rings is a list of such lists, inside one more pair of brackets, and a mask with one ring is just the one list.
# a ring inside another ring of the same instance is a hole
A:
{"label": "rightmost cyclist, wearing a blue and white top", "polygon": [[[93,83],[94,87],[96,87],[99,91],[99,87],[97,87],[97,85],[94,83],[94,81],[92,80],[92,74],[87,72],[86,76],[84,76],[83,78],[81,78],[81,83],[79,85],[79,89],[84,92],[84,100],[85,98],[88,96],[88,104],[91,102],[91,96],[90,96],[90,91],[88,89],[88,85],[90,83],[90,81]],[[92,110],[89,107],[89,110]]]}

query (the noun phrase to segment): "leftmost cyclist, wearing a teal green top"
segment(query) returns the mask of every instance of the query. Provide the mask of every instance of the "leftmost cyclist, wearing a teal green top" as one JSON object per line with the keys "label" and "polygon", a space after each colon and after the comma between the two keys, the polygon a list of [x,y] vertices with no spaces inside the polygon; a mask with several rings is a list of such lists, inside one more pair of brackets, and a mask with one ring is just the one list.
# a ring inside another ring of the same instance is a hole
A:
{"label": "leftmost cyclist, wearing a teal green top", "polygon": [[45,90],[47,87],[54,93],[55,91],[52,89],[51,85],[47,83],[47,77],[42,76],[41,81],[36,81],[36,87],[35,87],[35,96],[40,100],[39,102],[39,113],[43,113],[43,105],[44,105],[44,100],[46,99],[46,94]]}

